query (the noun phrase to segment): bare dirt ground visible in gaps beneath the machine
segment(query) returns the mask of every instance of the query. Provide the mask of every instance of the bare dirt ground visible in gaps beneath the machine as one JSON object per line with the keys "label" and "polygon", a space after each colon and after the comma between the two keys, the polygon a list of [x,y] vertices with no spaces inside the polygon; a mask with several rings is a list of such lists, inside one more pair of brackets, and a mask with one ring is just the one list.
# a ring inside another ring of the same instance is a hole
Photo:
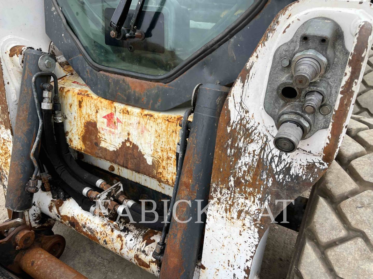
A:
{"label": "bare dirt ground visible in gaps beneath the machine", "polygon": [[[0,223],[8,218],[4,207],[4,195],[0,194]],[[78,232],[56,222],[55,234],[66,239],[66,248],[60,260],[90,279],[154,279],[155,276],[128,262],[112,251],[100,246]],[[285,279],[294,250],[297,232],[273,224],[270,227],[267,246],[261,268],[261,279]]]}

